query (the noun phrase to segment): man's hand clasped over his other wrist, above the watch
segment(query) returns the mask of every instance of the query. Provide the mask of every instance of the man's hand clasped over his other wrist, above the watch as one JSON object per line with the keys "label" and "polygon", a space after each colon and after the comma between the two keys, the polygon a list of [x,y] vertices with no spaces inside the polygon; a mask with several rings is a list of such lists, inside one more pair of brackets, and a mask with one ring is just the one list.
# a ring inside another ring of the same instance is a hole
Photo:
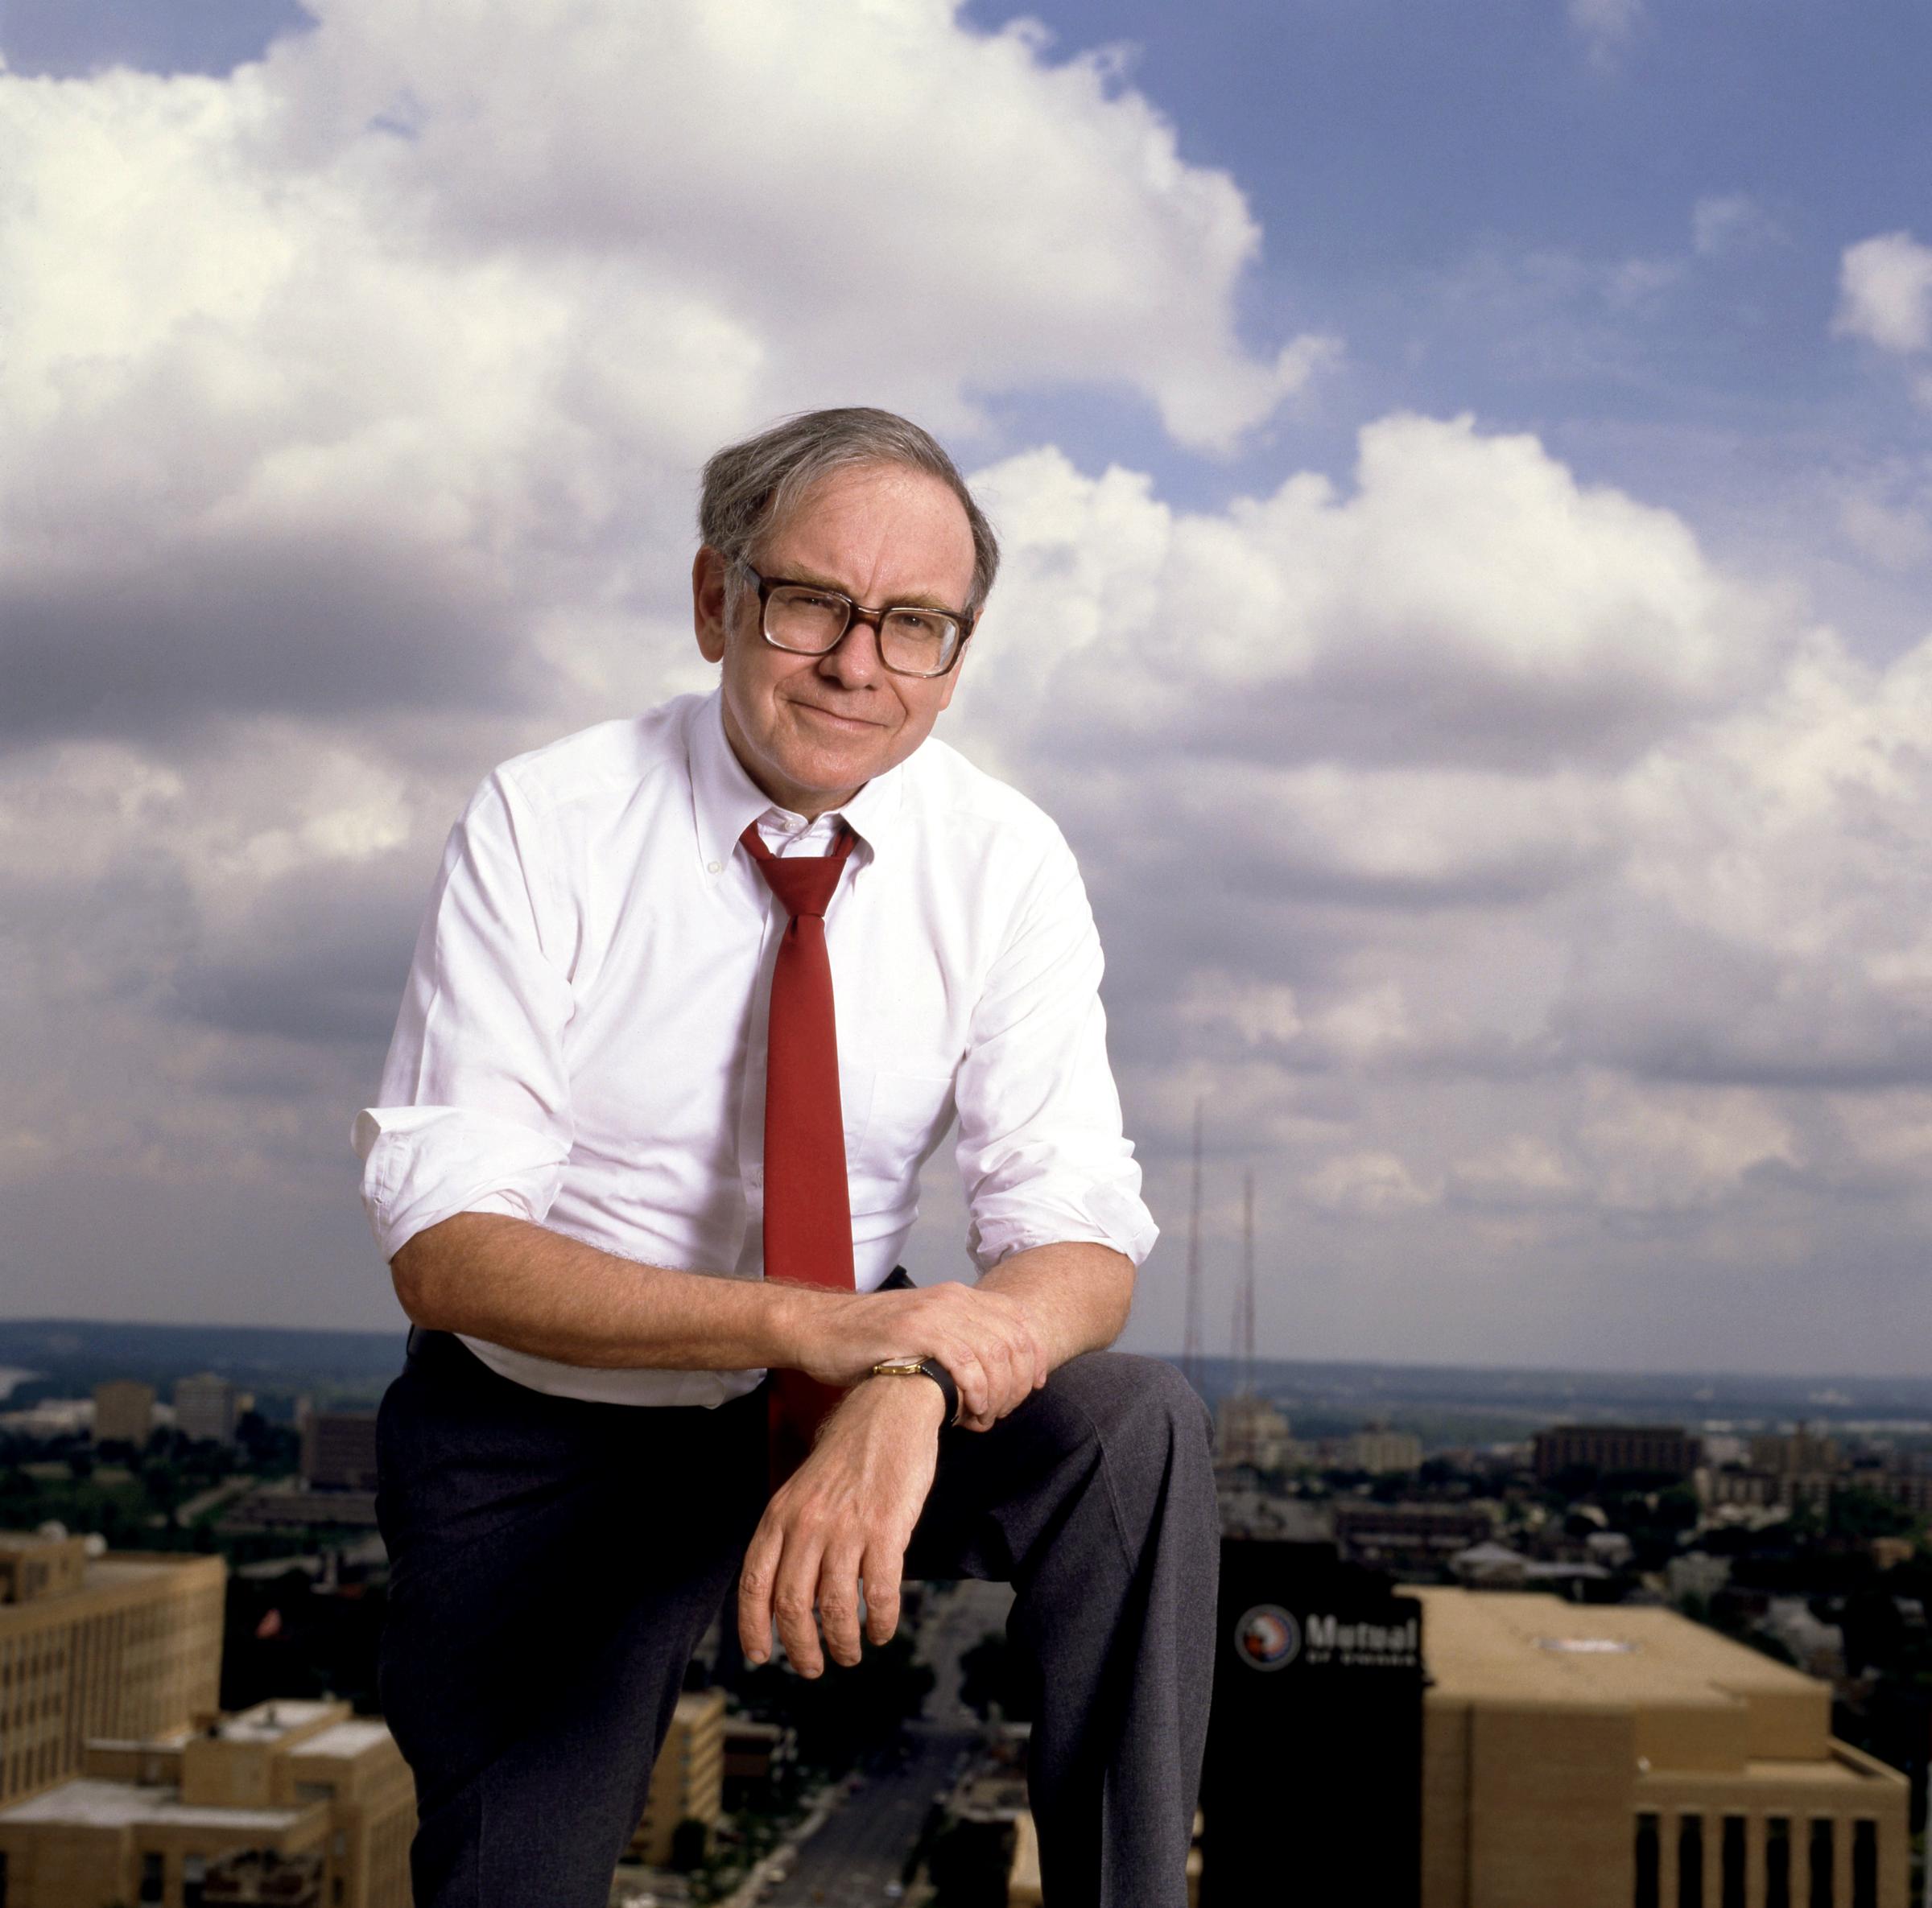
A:
{"label": "man's hand clasped over his other wrist, above the watch", "polygon": [[[1051,1369],[1028,1307],[989,1286],[947,1282],[813,1304],[796,1363],[825,1385],[856,1385],[889,1358],[937,1358],[960,1389],[960,1423],[989,1431]],[[933,1396],[939,1387],[920,1381]]]}

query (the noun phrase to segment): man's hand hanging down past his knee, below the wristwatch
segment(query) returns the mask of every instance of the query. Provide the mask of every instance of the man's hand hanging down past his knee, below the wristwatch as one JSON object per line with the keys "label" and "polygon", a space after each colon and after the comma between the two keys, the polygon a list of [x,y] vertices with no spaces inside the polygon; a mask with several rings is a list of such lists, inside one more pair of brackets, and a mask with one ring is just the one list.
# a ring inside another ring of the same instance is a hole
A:
{"label": "man's hand hanging down past his knee, below the wristwatch", "polygon": [[744,1553],[738,1641],[746,1663],[771,1655],[773,1622],[800,1676],[817,1676],[825,1653],[858,1663],[862,1584],[866,1636],[891,1640],[943,1417],[945,1398],[923,1377],[867,1379],[833,1412],[811,1456],[765,1506]]}

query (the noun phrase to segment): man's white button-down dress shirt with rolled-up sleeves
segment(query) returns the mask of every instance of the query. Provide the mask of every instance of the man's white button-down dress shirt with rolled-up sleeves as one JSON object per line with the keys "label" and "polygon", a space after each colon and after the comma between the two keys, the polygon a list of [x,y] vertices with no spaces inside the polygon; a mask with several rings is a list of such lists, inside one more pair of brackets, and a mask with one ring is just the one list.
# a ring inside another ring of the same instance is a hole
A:
{"label": "man's white button-down dress shirt with rolled-up sleeves", "polygon": [[[862,1292],[918,1217],[958,1114],[981,1269],[1155,1228],[1121,1134],[1080,871],[1024,796],[927,740],[840,811],[825,917]],[[738,842],[825,854],[771,805],[717,693],[504,763],[450,832],[381,1105],[355,1118],[383,1257],[452,1213],[510,1213],[647,1265],[763,1277],[765,1012],[782,908]],[[759,1371],[564,1365],[464,1340],[535,1390],[723,1404]]]}

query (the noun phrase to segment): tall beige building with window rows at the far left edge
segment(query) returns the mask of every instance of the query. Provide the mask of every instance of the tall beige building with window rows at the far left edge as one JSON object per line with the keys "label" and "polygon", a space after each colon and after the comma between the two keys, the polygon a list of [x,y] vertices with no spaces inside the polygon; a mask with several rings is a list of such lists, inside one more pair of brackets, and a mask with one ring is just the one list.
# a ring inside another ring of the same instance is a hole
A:
{"label": "tall beige building with window rows at the far left edge", "polygon": [[73,1775],[89,1736],[158,1736],[214,1709],[226,1582],[218,1557],[89,1557],[83,1537],[0,1531],[0,1808]]}

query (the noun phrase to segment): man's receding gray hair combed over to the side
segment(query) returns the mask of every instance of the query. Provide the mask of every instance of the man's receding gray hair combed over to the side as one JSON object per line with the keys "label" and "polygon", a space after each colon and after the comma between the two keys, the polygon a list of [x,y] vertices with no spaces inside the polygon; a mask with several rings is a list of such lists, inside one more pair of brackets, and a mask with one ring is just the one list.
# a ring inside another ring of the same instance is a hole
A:
{"label": "man's receding gray hair combed over to the side", "polygon": [[[978,616],[999,570],[999,539],[939,440],[893,411],[869,406],[800,411],[742,444],[726,444],[705,463],[697,535],[719,554],[750,562],[759,539],[782,523],[819,479],[867,463],[925,471],[960,500],[972,527],[972,595],[964,610]],[[730,601],[740,589],[732,570],[726,581]]]}

